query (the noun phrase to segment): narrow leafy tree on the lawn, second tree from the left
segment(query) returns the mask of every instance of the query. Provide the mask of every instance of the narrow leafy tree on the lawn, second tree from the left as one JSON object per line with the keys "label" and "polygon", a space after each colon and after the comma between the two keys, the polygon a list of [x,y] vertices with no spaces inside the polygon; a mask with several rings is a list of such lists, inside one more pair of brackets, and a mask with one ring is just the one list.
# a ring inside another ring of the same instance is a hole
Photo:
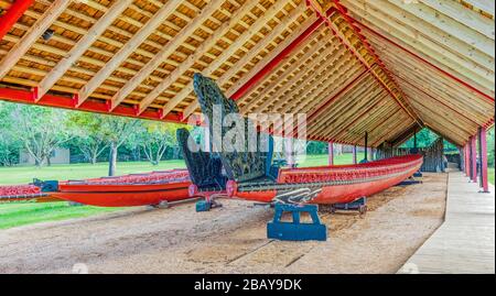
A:
{"label": "narrow leafy tree on the lawn, second tree from the left", "polygon": [[96,164],[109,144],[101,129],[103,122],[101,114],[72,112],[69,116],[69,125],[77,133],[74,144],[91,164]]}

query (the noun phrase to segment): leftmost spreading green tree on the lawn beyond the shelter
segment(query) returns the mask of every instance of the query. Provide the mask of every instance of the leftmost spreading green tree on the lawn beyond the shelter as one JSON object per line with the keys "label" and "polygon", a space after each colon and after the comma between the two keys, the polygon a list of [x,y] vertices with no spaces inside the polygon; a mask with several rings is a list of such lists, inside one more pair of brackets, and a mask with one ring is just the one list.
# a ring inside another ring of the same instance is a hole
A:
{"label": "leftmost spreading green tree on the lawn beyond the shelter", "polygon": [[65,110],[15,105],[9,119],[15,127],[13,139],[22,143],[39,167],[45,162],[50,165],[53,151],[74,136]]}

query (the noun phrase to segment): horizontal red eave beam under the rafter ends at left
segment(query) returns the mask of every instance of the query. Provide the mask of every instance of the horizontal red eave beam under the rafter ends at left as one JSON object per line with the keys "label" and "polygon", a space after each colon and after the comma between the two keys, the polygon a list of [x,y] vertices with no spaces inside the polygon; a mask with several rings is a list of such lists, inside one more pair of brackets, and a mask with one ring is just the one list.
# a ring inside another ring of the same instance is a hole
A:
{"label": "horizontal red eave beam under the rafter ends at left", "polygon": [[[0,99],[19,102],[19,103],[30,103],[36,106],[45,106],[45,107],[55,107],[63,108],[69,110],[78,110],[78,111],[88,111],[88,112],[97,112],[112,116],[121,116],[121,117],[131,117],[131,118],[140,118],[140,119],[150,119],[150,120],[161,120],[160,111],[144,111],[140,116],[137,116],[134,108],[119,106],[112,111],[109,111],[109,106],[106,102],[98,102],[93,100],[86,100],[79,107],[76,107],[76,98],[73,97],[64,97],[64,96],[54,96],[54,95],[45,95],[37,102],[34,101],[35,90],[20,90],[20,89],[11,89],[0,87]],[[168,114],[163,120],[168,122],[181,122],[180,116],[176,114]]]}

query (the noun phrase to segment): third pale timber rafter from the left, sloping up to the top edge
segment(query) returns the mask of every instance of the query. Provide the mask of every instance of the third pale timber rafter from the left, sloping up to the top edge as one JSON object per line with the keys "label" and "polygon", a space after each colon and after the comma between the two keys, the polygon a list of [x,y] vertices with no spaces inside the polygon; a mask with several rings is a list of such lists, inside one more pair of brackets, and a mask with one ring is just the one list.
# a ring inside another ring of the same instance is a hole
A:
{"label": "third pale timber rafter from the left, sloping up to the top edge", "polygon": [[101,85],[119,65],[140,46],[174,11],[182,1],[169,0],[159,11],[129,40],[122,48],[80,90],[77,105],[82,105]]}

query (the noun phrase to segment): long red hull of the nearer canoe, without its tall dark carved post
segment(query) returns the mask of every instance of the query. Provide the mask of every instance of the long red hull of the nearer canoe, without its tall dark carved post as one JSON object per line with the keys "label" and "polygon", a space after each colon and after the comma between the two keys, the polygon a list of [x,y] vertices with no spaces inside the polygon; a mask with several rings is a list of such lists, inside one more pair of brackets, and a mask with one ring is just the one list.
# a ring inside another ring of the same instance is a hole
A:
{"label": "long red hull of the nearer canoe, without its tall dark carved post", "polygon": [[245,185],[229,180],[227,195],[260,202],[338,204],[370,196],[418,172],[421,155],[406,155],[356,165],[280,169],[277,183]]}

